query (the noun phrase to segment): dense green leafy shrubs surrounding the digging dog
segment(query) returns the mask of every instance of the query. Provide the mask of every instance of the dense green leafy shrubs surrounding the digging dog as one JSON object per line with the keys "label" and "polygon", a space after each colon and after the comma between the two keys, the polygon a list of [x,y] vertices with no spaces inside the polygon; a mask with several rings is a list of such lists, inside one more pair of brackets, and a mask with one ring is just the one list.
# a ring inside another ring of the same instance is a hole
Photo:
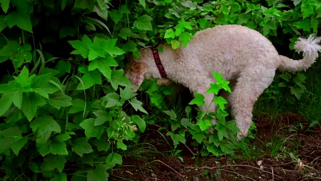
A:
{"label": "dense green leafy shrubs surrounding the digging dog", "polygon": [[[318,0],[0,0],[0,5],[4,180],[106,180],[122,164],[149,118],[124,76],[128,53],[139,56],[139,48],[162,42],[179,48],[188,44],[190,33],[240,24],[292,56],[296,39],[319,33],[321,20]],[[296,104],[306,93],[305,79],[304,73],[281,74],[265,94],[276,100],[285,92],[286,101]],[[166,111],[163,101],[171,89],[152,81],[141,89],[149,106],[171,116],[168,136],[174,144],[184,143],[176,114]],[[221,141],[229,137],[225,128],[216,129],[224,130]],[[202,142],[204,135],[190,133]],[[207,150],[230,152],[223,148],[231,145],[224,144]]]}

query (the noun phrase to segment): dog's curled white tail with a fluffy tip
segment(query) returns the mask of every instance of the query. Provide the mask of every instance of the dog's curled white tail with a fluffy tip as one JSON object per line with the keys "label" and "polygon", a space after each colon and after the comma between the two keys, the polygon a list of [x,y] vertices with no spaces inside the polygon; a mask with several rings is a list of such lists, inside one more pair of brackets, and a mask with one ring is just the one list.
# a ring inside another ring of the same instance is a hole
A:
{"label": "dog's curled white tail with a fluffy tip", "polygon": [[315,37],[314,34],[311,34],[308,39],[298,38],[298,41],[294,44],[294,49],[298,53],[303,52],[303,59],[296,61],[279,55],[278,69],[291,72],[308,69],[318,57],[318,52],[321,52],[320,41],[321,37]]}

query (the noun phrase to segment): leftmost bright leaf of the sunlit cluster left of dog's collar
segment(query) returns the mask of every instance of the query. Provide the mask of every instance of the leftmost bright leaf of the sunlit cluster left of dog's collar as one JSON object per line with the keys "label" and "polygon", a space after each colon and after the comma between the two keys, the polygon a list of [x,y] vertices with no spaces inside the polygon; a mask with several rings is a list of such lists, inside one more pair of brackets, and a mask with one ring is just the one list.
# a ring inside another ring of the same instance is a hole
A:
{"label": "leftmost bright leaf of the sunlit cluster left of dog's collar", "polygon": [[[76,3],[75,3],[76,4]],[[92,45],[90,38],[87,35],[84,35],[82,41],[80,40],[71,40],[68,43],[76,50],[72,51],[70,54],[81,55],[84,58],[88,58],[89,48],[88,46]]]}

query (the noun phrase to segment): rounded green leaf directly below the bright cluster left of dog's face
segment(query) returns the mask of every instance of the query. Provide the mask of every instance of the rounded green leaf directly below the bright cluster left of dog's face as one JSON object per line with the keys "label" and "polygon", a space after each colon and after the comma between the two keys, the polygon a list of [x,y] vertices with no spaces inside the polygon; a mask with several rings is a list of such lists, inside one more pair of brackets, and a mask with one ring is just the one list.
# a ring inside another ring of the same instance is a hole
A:
{"label": "rounded green leaf directly below the bright cluster left of dog's face", "polygon": [[[87,71],[81,77],[81,80],[84,83],[85,89],[92,87],[94,84],[102,84],[101,73],[98,70]],[[79,83],[77,90],[83,90],[82,83]]]}

